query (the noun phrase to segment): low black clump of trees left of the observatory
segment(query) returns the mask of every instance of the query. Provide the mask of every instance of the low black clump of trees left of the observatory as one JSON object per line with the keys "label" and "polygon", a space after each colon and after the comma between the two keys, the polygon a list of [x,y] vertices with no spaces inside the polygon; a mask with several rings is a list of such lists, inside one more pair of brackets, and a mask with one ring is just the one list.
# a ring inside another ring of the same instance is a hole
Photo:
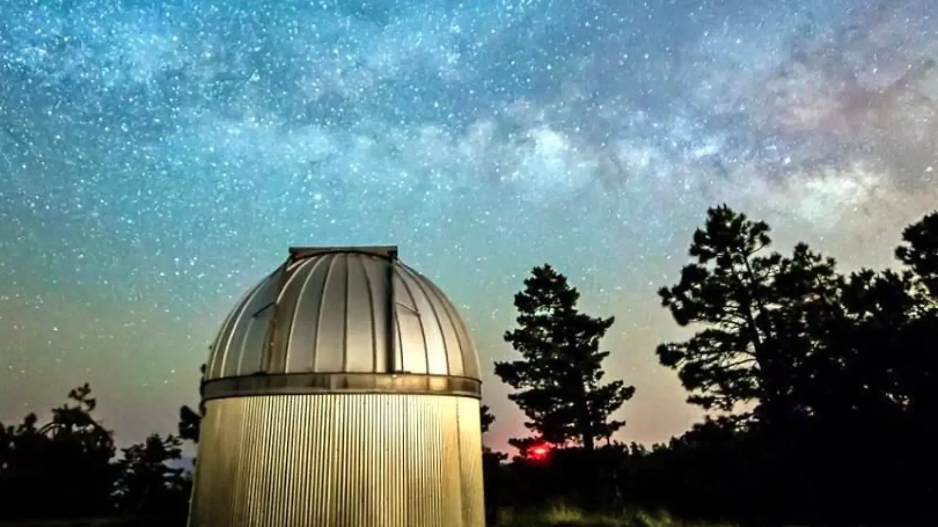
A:
{"label": "low black clump of trees left of the observatory", "polygon": [[84,384],[49,422],[28,414],[18,426],[0,424],[0,520],[185,521],[191,480],[169,465],[182,458],[182,439],[153,434],[117,457],[113,432],[94,417],[96,405]]}

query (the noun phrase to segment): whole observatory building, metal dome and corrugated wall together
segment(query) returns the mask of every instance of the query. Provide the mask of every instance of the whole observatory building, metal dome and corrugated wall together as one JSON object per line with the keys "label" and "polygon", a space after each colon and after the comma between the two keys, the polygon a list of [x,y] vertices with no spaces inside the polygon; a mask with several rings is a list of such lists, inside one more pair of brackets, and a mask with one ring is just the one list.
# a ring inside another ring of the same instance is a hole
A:
{"label": "whole observatory building, metal dome and corrugated wall together", "polygon": [[291,248],[212,345],[190,527],[482,527],[469,332],[397,248]]}

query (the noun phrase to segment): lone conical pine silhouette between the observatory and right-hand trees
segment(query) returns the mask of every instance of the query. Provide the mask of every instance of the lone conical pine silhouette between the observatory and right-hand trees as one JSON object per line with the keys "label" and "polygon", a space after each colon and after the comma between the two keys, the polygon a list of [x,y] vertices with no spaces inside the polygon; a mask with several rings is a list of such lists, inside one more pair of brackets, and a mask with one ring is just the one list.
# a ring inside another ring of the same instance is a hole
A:
{"label": "lone conical pine silhouette between the observatory and right-hand trees", "polygon": [[496,362],[495,375],[515,393],[508,396],[528,417],[528,429],[545,441],[576,441],[588,451],[598,438],[609,438],[624,421],[610,415],[631,399],[633,386],[622,381],[600,384],[602,360],[599,340],[614,318],[594,318],[577,309],[580,293],[567,277],[550,265],[535,267],[515,295],[519,327],[505,339],[522,354],[521,360]]}

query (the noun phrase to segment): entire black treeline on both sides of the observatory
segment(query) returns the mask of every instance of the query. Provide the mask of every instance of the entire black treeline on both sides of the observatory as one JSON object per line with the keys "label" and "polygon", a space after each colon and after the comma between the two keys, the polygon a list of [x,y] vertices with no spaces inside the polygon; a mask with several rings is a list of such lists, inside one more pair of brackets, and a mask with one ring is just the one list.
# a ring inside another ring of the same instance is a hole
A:
{"label": "entire black treeline on both sides of the observatory", "polygon": [[[696,331],[658,360],[709,416],[647,449],[613,439],[628,438],[612,415],[635,394],[604,380],[614,319],[583,313],[551,265],[533,270],[505,334],[518,356],[494,365],[531,434],[509,442],[510,461],[483,453],[490,525],[499,509],[561,501],[747,526],[938,524],[938,213],[902,233],[898,270],[846,275],[803,244],[773,251],[769,234],[709,210],[680,279],[658,292]],[[48,424],[0,426],[0,518],[185,518],[189,476],[169,463],[198,441],[201,412],[183,407],[179,437],[115,460],[94,408],[85,385]],[[483,406],[483,429],[493,420]]]}

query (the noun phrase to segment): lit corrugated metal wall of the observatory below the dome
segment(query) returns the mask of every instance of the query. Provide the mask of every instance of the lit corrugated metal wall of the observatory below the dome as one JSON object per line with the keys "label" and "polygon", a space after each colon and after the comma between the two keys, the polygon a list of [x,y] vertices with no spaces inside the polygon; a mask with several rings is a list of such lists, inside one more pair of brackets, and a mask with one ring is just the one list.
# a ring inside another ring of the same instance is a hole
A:
{"label": "lit corrugated metal wall of the observatory below the dome", "polygon": [[191,527],[482,527],[478,400],[210,400]]}

